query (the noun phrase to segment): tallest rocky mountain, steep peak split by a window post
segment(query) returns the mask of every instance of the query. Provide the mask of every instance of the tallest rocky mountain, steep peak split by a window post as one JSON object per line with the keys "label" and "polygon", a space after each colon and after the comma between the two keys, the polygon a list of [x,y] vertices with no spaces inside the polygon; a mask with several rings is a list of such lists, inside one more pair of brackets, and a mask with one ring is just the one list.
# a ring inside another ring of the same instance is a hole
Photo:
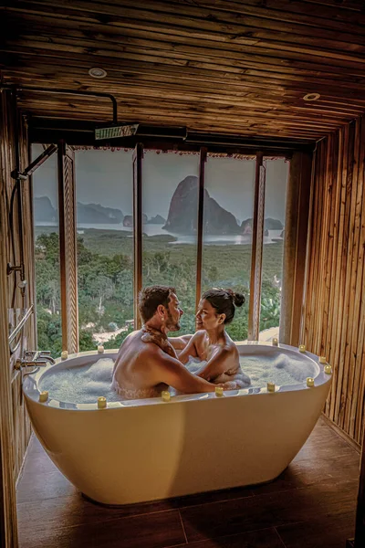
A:
{"label": "tallest rocky mountain, steep peak split by a window post", "polygon": [[[197,230],[198,177],[188,175],[172,195],[169,216],[162,227],[176,234],[195,234]],[[204,234],[239,234],[235,216],[226,211],[204,190]]]}

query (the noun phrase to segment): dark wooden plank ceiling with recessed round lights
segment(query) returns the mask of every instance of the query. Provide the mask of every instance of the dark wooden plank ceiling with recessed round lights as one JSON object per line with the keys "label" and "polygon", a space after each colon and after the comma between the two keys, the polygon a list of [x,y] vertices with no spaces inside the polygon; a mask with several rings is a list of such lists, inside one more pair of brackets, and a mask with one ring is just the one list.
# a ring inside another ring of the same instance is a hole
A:
{"label": "dark wooden plank ceiling with recessed round lights", "polygon": [[[0,10],[3,83],[112,93],[120,121],[313,142],[365,111],[362,0],[2,0]],[[19,106],[111,119],[110,101],[92,97],[24,90]]]}

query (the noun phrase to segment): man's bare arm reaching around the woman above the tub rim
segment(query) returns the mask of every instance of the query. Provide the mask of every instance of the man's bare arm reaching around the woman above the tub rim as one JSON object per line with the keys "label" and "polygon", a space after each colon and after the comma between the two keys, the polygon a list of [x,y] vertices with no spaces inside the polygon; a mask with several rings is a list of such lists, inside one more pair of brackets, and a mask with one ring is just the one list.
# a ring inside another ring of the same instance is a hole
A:
{"label": "man's bare arm reaching around the woman above the tub rim", "polygon": [[158,347],[150,354],[149,361],[150,371],[153,371],[156,385],[165,383],[185,394],[214,392],[215,390],[215,385],[189,373],[179,360],[172,358]]}

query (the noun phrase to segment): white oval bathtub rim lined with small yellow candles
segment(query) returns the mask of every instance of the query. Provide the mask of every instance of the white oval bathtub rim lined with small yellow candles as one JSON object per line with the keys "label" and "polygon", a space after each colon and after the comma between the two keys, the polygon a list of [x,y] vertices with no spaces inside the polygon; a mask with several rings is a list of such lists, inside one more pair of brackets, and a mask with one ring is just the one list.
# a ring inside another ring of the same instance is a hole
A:
{"label": "white oval bathtub rim lined with small yellow candles", "polygon": [[[240,348],[243,347],[264,347],[264,348],[272,348],[273,350],[279,351],[285,350],[287,353],[295,353],[298,354],[301,358],[305,358],[305,361],[310,361],[312,364],[314,364],[317,367],[317,374],[313,377],[314,378],[314,386],[308,387],[307,381],[304,381],[302,383],[297,383],[296,385],[283,385],[279,386],[276,385],[275,392],[268,392],[267,388],[265,387],[248,387],[248,388],[242,388],[242,389],[235,389],[235,390],[224,390],[224,395],[220,397],[220,399],[224,399],[225,397],[243,397],[246,395],[277,395],[278,393],[283,392],[295,392],[299,390],[315,390],[316,387],[320,385],[325,385],[327,383],[330,383],[332,379],[332,373],[327,374],[324,372],[324,366],[328,364],[319,364],[319,358],[314,353],[306,352],[300,352],[298,347],[290,346],[288,344],[273,344],[272,342],[261,342],[261,341],[239,341],[235,342],[236,346],[238,347],[238,351]],[[141,399],[134,399],[134,400],[123,400],[123,401],[117,401],[117,402],[107,402],[107,406],[99,409],[98,407],[98,401],[95,401],[95,403],[88,403],[88,404],[74,404],[69,402],[64,402],[57,400],[56,398],[50,397],[47,399],[46,402],[39,402],[39,395],[41,394],[41,391],[39,390],[39,382],[41,378],[47,374],[50,370],[52,370],[55,366],[59,364],[67,364],[71,361],[74,361],[78,358],[83,358],[86,356],[95,356],[97,359],[102,359],[103,357],[108,358],[111,356],[116,356],[116,354],[119,352],[119,349],[108,349],[104,350],[103,353],[99,353],[99,351],[86,351],[81,353],[73,353],[69,354],[67,359],[62,359],[61,357],[57,358],[55,364],[47,364],[46,367],[40,369],[35,374],[28,374],[26,375],[26,378],[23,382],[23,392],[26,398],[29,398],[33,400],[36,404],[40,406],[51,406],[56,407],[59,409],[65,409],[65,410],[73,410],[73,411],[108,411],[110,409],[118,409],[118,408],[124,408],[124,407],[137,407],[137,406],[153,406],[153,405],[171,405],[174,403],[179,402],[188,402],[192,400],[208,400],[208,399],[214,399],[217,396],[214,394],[214,392],[209,393],[200,393],[200,394],[184,394],[184,395],[173,395],[171,397],[171,400],[169,402],[163,402],[162,397],[150,397],[150,398],[141,398]],[[240,353],[240,355],[242,355]],[[75,364],[77,365],[77,364]],[[61,369],[61,368],[60,368]]]}

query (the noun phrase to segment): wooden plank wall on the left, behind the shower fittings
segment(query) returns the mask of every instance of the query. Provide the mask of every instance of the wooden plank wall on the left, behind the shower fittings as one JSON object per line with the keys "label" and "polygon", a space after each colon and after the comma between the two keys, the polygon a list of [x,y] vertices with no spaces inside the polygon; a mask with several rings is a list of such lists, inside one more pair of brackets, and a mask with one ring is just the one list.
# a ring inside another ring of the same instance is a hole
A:
{"label": "wooden plank wall on the left, behind the shower fittings", "polygon": [[[20,169],[25,169],[28,163],[26,125],[23,120],[16,121],[14,117],[15,98],[10,92],[3,91],[0,94],[0,269],[1,269],[1,307],[0,307],[0,450],[2,461],[3,481],[5,486],[5,547],[16,546],[13,491],[21,469],[26,447],[30,437],[30,425],[26,416],[26,409],[21,393],[21,374],[16,372],[14,364],[24,348],[35,347],[35,322],[33,317],[28,321],[21,338],[21,343],[15,353],[10,355],[7,344],[8,336],[8,309],[13,306],[14,277],[11,274],[6,277],[6,263],[18,264],[19,233],[17,228],[17,215],[14,218],[15,249],[16,256],[11,245],[9,229],[9,205],[11,192],[15,181],[10,173],[16,166],[16,141],[15,124],[18,123],[20,132]],[[23,234],[24,234],[24,258],[26,264],[26,279],[28,286],[26,300],[22,298],[21,291],[16,288],[14,307],[23,308],[34,302],[33,294],[33,239],[32,239],[32,215],[31,195],[29,181],[22,183],[23,197]],[[16,211],[16,202],[15,202]],[[20,276],[16,274],[16,281]],[[3,509],[4,510],[4,509]],[[13,515],[12,515],[13,512]],[[3,544],[2,544],[3,545]]]}

